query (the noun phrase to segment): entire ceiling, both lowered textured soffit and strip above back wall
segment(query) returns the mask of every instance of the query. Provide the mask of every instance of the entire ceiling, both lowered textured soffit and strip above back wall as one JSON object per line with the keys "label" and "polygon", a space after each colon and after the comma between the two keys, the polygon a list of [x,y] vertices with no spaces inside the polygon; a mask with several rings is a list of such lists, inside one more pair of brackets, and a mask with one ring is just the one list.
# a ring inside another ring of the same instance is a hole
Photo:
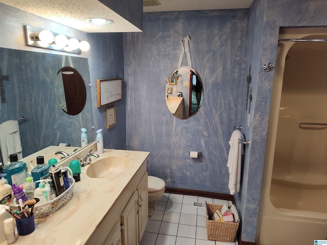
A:
{"label": "entire ceiling, both lowered textured soffit and strip above back wall", "polygon": [[[145,1],[145,0],[144,0]],[[144,12],[249,8],[253,0],[157,0],[159,6],[144,7]],[[0,3],[64,24],[83,32],[141,32],[126,19],[98,0],[0,0]],[[98,17],[113,23],[96,26],[85,21]]]}

